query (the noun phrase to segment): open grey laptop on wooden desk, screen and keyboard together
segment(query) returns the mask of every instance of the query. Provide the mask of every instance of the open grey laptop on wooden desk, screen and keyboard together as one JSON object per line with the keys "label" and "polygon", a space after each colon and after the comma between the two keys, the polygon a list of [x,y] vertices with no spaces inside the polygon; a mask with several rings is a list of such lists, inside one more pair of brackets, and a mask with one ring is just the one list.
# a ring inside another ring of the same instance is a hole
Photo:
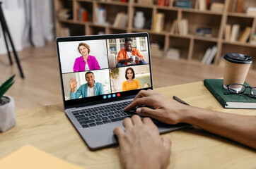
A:
{"label": "open grey laptop on wooden desk, screen and keyboard together", "polygon": [[[132,55],[127,57],[142,59],[117,64],[118,54],[126,55],[125,39],[132,45]],[[122,120],[135,113],[123,109],[139,91],[153,89],[149,35],[59,37],[56,44],[64,110],[69,120],[89,149],[117,145],[113,129],[123,127]],[[153,121],[160,133],[188,126]]]}

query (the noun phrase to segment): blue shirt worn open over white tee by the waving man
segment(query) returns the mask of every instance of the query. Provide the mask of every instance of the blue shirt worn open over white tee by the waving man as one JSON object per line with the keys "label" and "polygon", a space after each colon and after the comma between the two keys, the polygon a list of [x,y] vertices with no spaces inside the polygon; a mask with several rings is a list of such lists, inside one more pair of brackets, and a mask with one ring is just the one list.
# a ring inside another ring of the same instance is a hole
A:
{"label": "blue shirt worn open over white tee by the waving man", "polygon": [[[94,81],[94,92],[95,96],[105,94],[103,84],[100,82],[95,82]],[[81,95],[82,97],[87,97],[87,88],[88,88],[88,83],[81,85],[75,92],[70,92],[70,99],[78,99]]]}

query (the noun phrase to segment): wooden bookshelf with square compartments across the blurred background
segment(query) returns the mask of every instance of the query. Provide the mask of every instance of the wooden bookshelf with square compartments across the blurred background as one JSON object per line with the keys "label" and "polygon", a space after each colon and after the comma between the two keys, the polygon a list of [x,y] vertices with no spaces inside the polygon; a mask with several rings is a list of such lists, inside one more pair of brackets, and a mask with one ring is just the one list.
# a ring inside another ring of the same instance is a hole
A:
{"label": "wooden bookshelf with square compartments across the blurred background", "polygon": [[[160,1],[160,0],[158,0]],[[256,7],[255,0],[188,0],[191,8],[176,7],[178,0],[168,0],[168,6],[158,5],[158,1],[153,0],[54,0],[55,11],[55,27],[56,35],[59,36],[74,36],[74,35],[98,35],[100,34],[115,34],[129,32],[148,32],[150,42],[159,45],[159,49],[163,51],[163,57],[167,57],[168,49],[174,48],[180,51],[180,59],[201,64],[202,58],[206,50],[212,46],[217,47],[216,56],[211,64],[223,65],[223,55],[229,52],[238,52],[252,56],[254,62],[252,68],[256,70],[256,44],[251,43],[253,35],[256,33],[256,15],[247,15],[248,7]],[[180,0],[182,1],[182,0]],[[202,8],[202,2],[206,5]],[[234,2],[243,2],[242,11],[234,11]],[[222,4],[221,9],[211,11],[211,4]],[[78,20],[78,10],[85,8],[88,12],[86,22]],[[98,8],[106,10],[105,24],[96,23]],[[233,8],[233,9],[232,9]],[[71,13],[69,18],[60,18],[59,13],[68,9]],[[136,11],[144,13],[145,25],[139,29],[134,27],[134,17]],[[127,13],[127,22],[124,27],[113,26],[117,13]],[[164,15],[163,27],[161,31],[156,32],[153,29],[153,24],[156,23],[158,13]],[[187,20],[188,25],[180,26],[180,20]],[[178,26],[173,26],[177,22]],[[225,39],[227,25],[232,26],[238,24],[240,26],[237,32],[237,39],[234,42]],[[182,28],[181,28],[182,27]],[[184,28],[185,27],[185,28]],[[197,28],[206,27],[211,30],[210,37],[199,36]],[[250,27],[248,40],[239,42],[239,38],[243,35],[246,27]],[[66,29],[66,30],[64,30]],[[173,31],[172,31],[173,29]],[[185,29],[185,34],[178,33],[179,29]],[[176,32],[175,32],[176,30]],[[122,43],[110,44],[115,46],[115,49],[120,49]],[[136,40],[134,46],[145,49],[143,40]],[[142,46],[142,47],[141,47]],[[112,48],[114,49],[114,47]],[[116,53],[117,51],[114,51]],[[154,57],[153,51],[151,56]]]}

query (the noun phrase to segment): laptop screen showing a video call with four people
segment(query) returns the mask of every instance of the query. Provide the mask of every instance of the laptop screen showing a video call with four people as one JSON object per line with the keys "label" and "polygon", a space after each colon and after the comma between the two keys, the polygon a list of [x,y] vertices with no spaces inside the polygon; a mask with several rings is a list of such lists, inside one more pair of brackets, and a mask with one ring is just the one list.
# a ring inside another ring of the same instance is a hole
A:
{"label": "laptop screen showing a video call with four people", "polygon": [[56,44],[65,108],[153,89],[147,33],[59,37]]}

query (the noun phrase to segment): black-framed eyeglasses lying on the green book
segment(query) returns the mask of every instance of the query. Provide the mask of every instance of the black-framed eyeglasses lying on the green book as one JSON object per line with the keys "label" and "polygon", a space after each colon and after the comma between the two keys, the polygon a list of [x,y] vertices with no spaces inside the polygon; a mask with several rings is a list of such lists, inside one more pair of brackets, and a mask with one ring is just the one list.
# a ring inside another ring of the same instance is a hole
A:
{"label": "black-framed eyeglasses lying on the green book", "polygon": [[[256,87],[249,87],[243,84],[229,84],[227,87],[229,93],[224,94],[243,94],[256,99]],[[244,93],[246,89],[250,89],[250,94]]]}

